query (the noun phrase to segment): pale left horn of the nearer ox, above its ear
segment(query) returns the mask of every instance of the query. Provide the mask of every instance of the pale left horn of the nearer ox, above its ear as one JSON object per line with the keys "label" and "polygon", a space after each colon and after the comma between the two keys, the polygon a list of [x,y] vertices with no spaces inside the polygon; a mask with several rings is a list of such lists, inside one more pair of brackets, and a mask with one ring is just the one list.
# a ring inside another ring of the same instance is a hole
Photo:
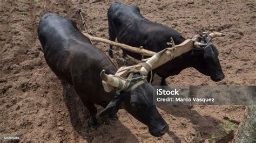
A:
{"label": "pale left horn of the nearer ox, above its ear", "polygon": [[117,77],[105,74],[105,70],[104,69],[100,73],[100,77],[107,84],[111,85],[112,87],[118,88],[118,89],[122,88],[124,83],[125,83],[123,80],[121,80],[121,79],[119,79]]}

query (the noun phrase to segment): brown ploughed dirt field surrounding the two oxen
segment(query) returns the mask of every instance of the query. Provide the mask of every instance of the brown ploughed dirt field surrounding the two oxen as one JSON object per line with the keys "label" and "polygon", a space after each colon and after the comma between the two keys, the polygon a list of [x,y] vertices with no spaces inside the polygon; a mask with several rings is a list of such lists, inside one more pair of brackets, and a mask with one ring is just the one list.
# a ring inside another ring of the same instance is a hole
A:
{"label": "brown ploughed dirt field surrounding the two oxen", "polygon": [[[188,68],[169,77],[169,85],[255,85],[255,1],[125,3],[139,4],[147,19],[173,27],[185,37],[199,31],[226,34],[214,39],[226,76],[223,81],[213,82]],[[208,142],[214,134],[217,142],[230,141],[233,132],[225,134],[223,130],[227,130],[227,117],[239,123],[244,106],[158,106],[170,125],[170,131],[161,138],[150,135],[147,127],[125,110],[118,112],[118,120],[100,119],[100,127],[90,129],[89,113],[75,91],[46,65],[37,26],[44,13],[55,12],[75,20],[80,27],[77,11],[83,8],[93,33],[108,38],[106,15],[110,4],[40,0],[0,3],[0,136],[21,135],[22,142]],[[107,45],[95,45],[107,54]],[[112,61],[117,67],[124,64],[118,54]],[[153,84],[159,84],[159,77],[155,78]]]}

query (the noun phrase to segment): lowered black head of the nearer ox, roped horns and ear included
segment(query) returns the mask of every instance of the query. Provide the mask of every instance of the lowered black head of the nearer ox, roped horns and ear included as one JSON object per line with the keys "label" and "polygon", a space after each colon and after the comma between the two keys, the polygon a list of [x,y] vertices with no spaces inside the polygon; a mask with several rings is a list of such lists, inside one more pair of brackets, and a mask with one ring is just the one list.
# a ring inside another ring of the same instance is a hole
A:
{"label": "lowered black head of the nearer ox, roped horns and ear included", "polygon": [[[116,88],[119,95],[114,97],[107,107],[100,112],[99,116],[107,116],[116,113],[120,108],[124,108],[134,118],[149,127],[149,132],[160,137],[169,131],[169,126],[153,105],[153,96],[156,89],[146,81],[146,75],[151,70],[159,56],[165,51],[161,51],[152,56],[143,65],[136,65],[128,68],[127,75],[123,78],[115,75],[107,75],[103,70],[100,73],[102,80],[108,85]],[[137,67],[134,68],[134,67]],[[139,67],[139,68],[138,68]],[[130,69],[130,70],[129,70]]]}

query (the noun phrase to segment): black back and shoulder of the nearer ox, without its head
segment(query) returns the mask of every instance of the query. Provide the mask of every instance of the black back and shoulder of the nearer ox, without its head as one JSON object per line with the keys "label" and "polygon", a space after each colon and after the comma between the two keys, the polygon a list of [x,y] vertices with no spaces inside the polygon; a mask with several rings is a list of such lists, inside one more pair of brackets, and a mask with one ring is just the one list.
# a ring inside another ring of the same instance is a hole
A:
{"label": "black back and shoulder of the nearer ox, without its head", "polygon": [[75,22],[48,13],[39,22],[38,37],[46,63],[53,73],[73,85],[85,106],[87,103],[106,106],[111,101],[114,94],[104,91],[99,75],[103,69],[114,74],[116,68],[78,31]]}

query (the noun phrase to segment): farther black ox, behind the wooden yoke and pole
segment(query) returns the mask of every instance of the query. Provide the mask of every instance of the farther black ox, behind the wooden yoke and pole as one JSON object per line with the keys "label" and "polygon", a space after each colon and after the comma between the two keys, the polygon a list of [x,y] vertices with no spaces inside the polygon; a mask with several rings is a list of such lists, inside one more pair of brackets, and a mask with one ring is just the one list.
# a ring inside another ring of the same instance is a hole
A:
{"label": "farther black ox, behind the wooden yoke and pole", "polygon": [[[171,37],[176,45],[186,40],[176,30],[144,18],[140,14],[138,6],[127,6],[114,2],[107,12],[107,18],[109,21],[109,40],[114,41],[117,38],[118,42],[133,47],[143,46],[150,51],[159,52],[170,47],[167,42],[170,42]],[[112,49],[111,45],[110,49]],[[109,50],[109,54],[113,58],[111,50]],[[126,54],[138,60],[142,59],[139,54],[123,50],[124,57]],[[180,55],[154,69],[153,72],[161,77],[161,85],[166,85],[166,77],[178,75],[181,70],[188,67],[196,68],[200,73],[210,76],[215,82],[221,81],[225,75],[221,69],[218,55],[218,49],[211,45],[201,50],[192,50]]]}

